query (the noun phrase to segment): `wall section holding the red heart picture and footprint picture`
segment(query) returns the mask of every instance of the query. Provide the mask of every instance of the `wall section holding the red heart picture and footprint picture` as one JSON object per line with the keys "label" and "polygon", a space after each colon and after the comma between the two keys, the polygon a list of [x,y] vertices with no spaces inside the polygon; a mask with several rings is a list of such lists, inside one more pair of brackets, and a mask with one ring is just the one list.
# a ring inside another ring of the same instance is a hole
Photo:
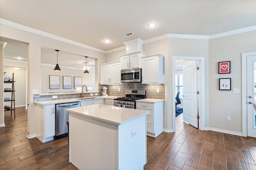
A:
{"label": "wall section holding the red heart picture and footprint picture", "polygon": [[[242,133],[242,55],[256,51],[256,31],[209,41],[210,105],[209,127]],[[218,62],[231,61],[230,74],[218,74]],[[231,78],[232,90],[218,90],[219,78]],[[226,117],[231,116],[231,121]]]}

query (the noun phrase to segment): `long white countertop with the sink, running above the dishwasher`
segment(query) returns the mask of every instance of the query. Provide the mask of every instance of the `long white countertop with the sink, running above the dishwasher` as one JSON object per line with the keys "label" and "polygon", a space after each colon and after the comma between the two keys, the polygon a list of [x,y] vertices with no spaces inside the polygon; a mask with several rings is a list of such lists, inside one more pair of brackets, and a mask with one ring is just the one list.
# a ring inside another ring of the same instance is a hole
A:
{"label": "long white countertop with the sink, running above the dishwasher", "polygon": [[42,102],[34,102],[34,104],[49,105],[49,104],[69,103],[69,102],[82,102],[84,100],[115,99],[117,97],[118,96],[90,96],[83,99],[75,98],[75,99],[48,100],[48,101],[42,101]]}

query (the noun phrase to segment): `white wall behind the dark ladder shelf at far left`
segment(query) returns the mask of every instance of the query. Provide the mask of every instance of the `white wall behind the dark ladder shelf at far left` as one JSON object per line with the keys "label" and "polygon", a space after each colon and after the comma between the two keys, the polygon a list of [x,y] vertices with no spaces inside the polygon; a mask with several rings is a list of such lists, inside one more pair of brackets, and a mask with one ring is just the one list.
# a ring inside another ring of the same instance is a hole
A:
{"label": "white wall behind the dark ladder shelf at far left", "polygon": [[[6,76],[12,78],[14,73],[14,88],[15,88],[15,106],[26,106],[26,68],[15,70],[14,68],[4,66]],[[12,84],[4,84],[4,88],[11,88]],[[5,92],[4,97],[12,98],[11,92]],[[4,102],[4,105],[11,106],[11,102]]]}

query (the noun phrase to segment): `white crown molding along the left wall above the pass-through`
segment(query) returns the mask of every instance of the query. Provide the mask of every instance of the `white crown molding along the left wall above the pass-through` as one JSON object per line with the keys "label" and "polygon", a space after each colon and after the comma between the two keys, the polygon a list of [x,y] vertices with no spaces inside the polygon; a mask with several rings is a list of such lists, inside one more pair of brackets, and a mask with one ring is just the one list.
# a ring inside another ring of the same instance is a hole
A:
{"label": "white crown molding along the left wall above the pass-through", "polygon": [[21,25],[19,23],[8,21],[8,20],[5,20],[3,18],[0,18],[0,24],[7,25],[7,26],[10,26],[10,27],[21,29],[23,31],[28,31],[30,33],[34,33],[34,34],[37,34],[37,35],[42,35],[44,37],[48,37],[48,38],[52,38],[52,39],[55,39],[55,40],[58,40],[58,41],[62,41],[64,43],[69,43],[69,44],[72,44],[72,45],[76,45],[78,47],[83,47],[83,48],[86,48],[86,49],[90,49],[90,50],[93,50],[93,51],[97,51],[97,52],[106,54],[106,51],[104,51],[104,50],[97,49],[95,47],[91,47],[89,45],[85,45],[85,44],[82,44],[82,43],[78,43],[78,42],[72,41],[70,39],[59,37],[57,35],[53,35],[53,34],[50,34],[50,33],[44,32],[44,31],[40,31],[38,29],[27,27],[27,26]]}

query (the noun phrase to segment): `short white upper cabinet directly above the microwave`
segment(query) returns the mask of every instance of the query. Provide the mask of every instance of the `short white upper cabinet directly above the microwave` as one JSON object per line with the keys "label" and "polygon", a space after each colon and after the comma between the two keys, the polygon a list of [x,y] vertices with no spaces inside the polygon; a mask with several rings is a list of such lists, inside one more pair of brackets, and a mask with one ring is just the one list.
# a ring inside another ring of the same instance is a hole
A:
{"label": "short white upper cabinet directly above the microwave", "polygon": [[141,57],[147,55],[143,51],[120,55],[121,70],[142,68]]}

